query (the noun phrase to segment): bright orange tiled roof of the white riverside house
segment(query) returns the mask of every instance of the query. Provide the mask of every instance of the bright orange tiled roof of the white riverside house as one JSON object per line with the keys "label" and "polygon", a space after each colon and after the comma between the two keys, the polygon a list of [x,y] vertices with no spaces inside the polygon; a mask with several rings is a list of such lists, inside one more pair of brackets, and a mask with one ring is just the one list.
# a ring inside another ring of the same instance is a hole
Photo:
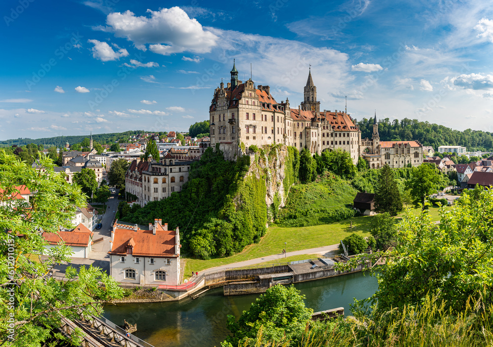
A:
{"label": "bright orange tiled roof of the white riverside house", "polygon": [[134,256],[176,257],[176,231],[166,231],[160,224],[157,224],[155,235],[152,230],[138,229],[135,231],[127,228],[131,227],[115,223],[113,244],[109,254],[126,255],[127,246],[132,245],[132,255]]}

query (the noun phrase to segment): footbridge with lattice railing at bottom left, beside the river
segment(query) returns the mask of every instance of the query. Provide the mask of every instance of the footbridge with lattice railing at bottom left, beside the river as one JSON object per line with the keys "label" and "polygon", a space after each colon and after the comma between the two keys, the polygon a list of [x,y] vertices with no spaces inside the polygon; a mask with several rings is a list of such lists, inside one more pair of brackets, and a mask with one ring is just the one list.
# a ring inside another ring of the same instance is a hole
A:
{"label": "footbridge with lattice railing at bottom left, beside the river", "polygon": [[153,347],[138,337],[127,332],[104,317],[91,315],[88,319],[70,320],[62,318],[62,332],[70,337],[75,329],[81,329],[82,347]]}

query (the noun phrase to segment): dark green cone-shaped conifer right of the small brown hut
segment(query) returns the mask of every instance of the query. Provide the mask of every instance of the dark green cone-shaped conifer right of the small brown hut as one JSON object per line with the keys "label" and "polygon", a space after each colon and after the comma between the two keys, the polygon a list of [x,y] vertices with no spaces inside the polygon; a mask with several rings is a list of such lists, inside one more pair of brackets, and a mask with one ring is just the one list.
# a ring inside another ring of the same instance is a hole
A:
{"label": "dark green cone-shaped conifer right of the small brown hut", "polygon": [[375,187],[375,205],[378,211],[391,216],[402,211],[402,200],[392,169],[387,164],[382,167]]}

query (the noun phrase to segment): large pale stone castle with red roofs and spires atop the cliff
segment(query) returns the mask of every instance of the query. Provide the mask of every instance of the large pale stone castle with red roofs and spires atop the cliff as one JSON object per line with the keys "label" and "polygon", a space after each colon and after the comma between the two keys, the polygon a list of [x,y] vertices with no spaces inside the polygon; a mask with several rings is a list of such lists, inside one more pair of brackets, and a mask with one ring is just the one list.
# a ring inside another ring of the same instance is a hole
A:
{"label": "large pale stone castle with red roofs and spires atop the cliff", "polygon": [[320,111],[311,69],[303,94],[303,102],[292,109],[287,98],[278,103],[269,86],[255,86],[251,78],[239,80],[233,64],[231,82],[225,88],[221,81],[209,108],[211,146],[219,144],[230,159],[251,145],[283,144],[299,151],[307,148],[311,154],[341,149],[354,164],[362,156],[370,168],[423,162],[423,146],[417,141],[380,141],[376,115],[372,138],[361,139],[356,120],[346,112]]}

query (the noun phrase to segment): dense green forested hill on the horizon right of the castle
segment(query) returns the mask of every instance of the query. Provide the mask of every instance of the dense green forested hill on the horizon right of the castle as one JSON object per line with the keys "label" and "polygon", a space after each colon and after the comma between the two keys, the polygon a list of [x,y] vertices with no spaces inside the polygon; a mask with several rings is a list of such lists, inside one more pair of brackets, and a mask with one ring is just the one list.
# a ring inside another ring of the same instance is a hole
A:
{"label": "dense green forested hill on the horizon right of the castle", "polygon": [[[361,138],[371,139],[373,118],[357,122],[361,130]],[[466,129],[464,131],[447,128],[443,125],[404,118],[402,120],[380,119],[378,123],[380,141],[417,140],[423,146],[432,146],[435,151],[439,146],[463,146],[468,151],[490,151],[493,148],[491,132]]]}

